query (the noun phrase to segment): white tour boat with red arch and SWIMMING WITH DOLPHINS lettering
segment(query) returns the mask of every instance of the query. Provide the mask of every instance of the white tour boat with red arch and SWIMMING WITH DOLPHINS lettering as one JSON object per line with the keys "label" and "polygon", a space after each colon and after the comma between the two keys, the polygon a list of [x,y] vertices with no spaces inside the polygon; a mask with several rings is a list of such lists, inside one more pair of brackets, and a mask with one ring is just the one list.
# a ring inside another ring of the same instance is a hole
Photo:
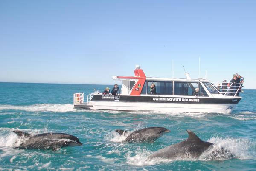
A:
{"label": "white tour boat with red arch and SWIMMING WITH DOLPHINS lettering", "polygon": [[[210,112],[230,113],[239,103],[242,84],[217,89],[207,79],[153,78],[146,77],[140,66],[136,66],[134,76],[113,76],[122,81],[121,94],[103,95],[96,91],[87,95],[74,94],[74,107],[121,111],[160,112]],[[156,94],[151,94],[154,84]],[[193,95],[198,88],[198,95]],[[219,91],[220,90],[220,91]]]}

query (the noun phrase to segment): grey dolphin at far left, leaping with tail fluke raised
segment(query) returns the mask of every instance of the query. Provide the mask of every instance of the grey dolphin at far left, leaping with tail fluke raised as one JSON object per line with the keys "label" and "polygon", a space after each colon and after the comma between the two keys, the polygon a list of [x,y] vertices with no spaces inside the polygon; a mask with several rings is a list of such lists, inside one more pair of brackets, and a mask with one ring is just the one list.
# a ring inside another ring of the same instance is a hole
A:
{"label": "grey dolphin at far left, leaping with tail fluke raised", "polygon": [[81,146],[82,143],[73,135],[64,133],[44,133],[30,135],[26,132],[13,131],[18,137],[24,137],[18,149],[52,149],[53,151],[66,146]]}

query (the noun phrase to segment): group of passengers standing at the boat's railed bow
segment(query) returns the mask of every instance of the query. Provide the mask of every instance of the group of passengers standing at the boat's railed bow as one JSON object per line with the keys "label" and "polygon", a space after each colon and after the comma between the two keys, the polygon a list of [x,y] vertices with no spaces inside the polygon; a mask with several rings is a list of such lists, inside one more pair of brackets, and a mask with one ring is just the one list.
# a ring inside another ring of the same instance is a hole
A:
{"label": "group of passengers standing at the boat's railed bow", "polygon": [[244,77],[236,73],[236,74],[233,74],[233,78],[230,80],[230,82],[227,82],[227,80],[224,80],[222,82],[222,85],[218,84],[217,88],[219,91],[223,92],[222,94],[226,93],[227,90],[229,89],[228,95],[239,96],[243,83],[244,83]]}

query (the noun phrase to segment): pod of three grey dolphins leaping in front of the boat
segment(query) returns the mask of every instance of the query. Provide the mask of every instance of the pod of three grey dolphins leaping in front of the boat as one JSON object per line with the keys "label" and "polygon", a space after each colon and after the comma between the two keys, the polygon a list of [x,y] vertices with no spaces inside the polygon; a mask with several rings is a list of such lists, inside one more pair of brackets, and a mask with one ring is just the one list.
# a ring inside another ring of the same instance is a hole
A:
{"label": "pod of three grey dolphins leaping in front of the boat", "polygon": [[[127,132],[122,129],[117,129],[115,131],[118,132],[120,136],[126,137],[124,140],[125,142],[153,142],[163,134],[170,132],[168,129],[163,127],[148,127],[134,132]],[[62,147],[82,145],[77,137],[64,133],[30,135],[19,130],[14,130],[13,132],[23,140],[20,146],[15,147],[17,149],[51,149],[52,151],[55,151]],[[213,147],[213,143],[202,141],[194,132],[187,130],[187,133],[189,137],[186,140],[155,151],[147,158],[147,160],[149,161],[156,157],[166,159],[196,159],[200,157],[204,151]],[[235,157],[230,151],[223,148],[221,148],[221,150],[213,151],[212,153],[224,155],[227,152],[230,154],[228,158]]]}

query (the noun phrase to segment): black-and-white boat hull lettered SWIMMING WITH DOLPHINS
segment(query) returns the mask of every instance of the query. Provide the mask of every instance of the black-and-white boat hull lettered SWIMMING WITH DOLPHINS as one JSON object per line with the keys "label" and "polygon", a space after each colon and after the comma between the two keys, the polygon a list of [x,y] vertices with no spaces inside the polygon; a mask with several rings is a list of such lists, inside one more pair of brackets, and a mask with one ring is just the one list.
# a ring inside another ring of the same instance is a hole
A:
{"label": "black-and-white boat hull lettered SWIMMING WITH DOLPHINS", "polygon": [[240,97],[216,99],[166,96],[94,95],[88,105],[81,104],[75,105],[75,107],[121,111],[146,110],[159,112],[230,113],[240,99]]}

